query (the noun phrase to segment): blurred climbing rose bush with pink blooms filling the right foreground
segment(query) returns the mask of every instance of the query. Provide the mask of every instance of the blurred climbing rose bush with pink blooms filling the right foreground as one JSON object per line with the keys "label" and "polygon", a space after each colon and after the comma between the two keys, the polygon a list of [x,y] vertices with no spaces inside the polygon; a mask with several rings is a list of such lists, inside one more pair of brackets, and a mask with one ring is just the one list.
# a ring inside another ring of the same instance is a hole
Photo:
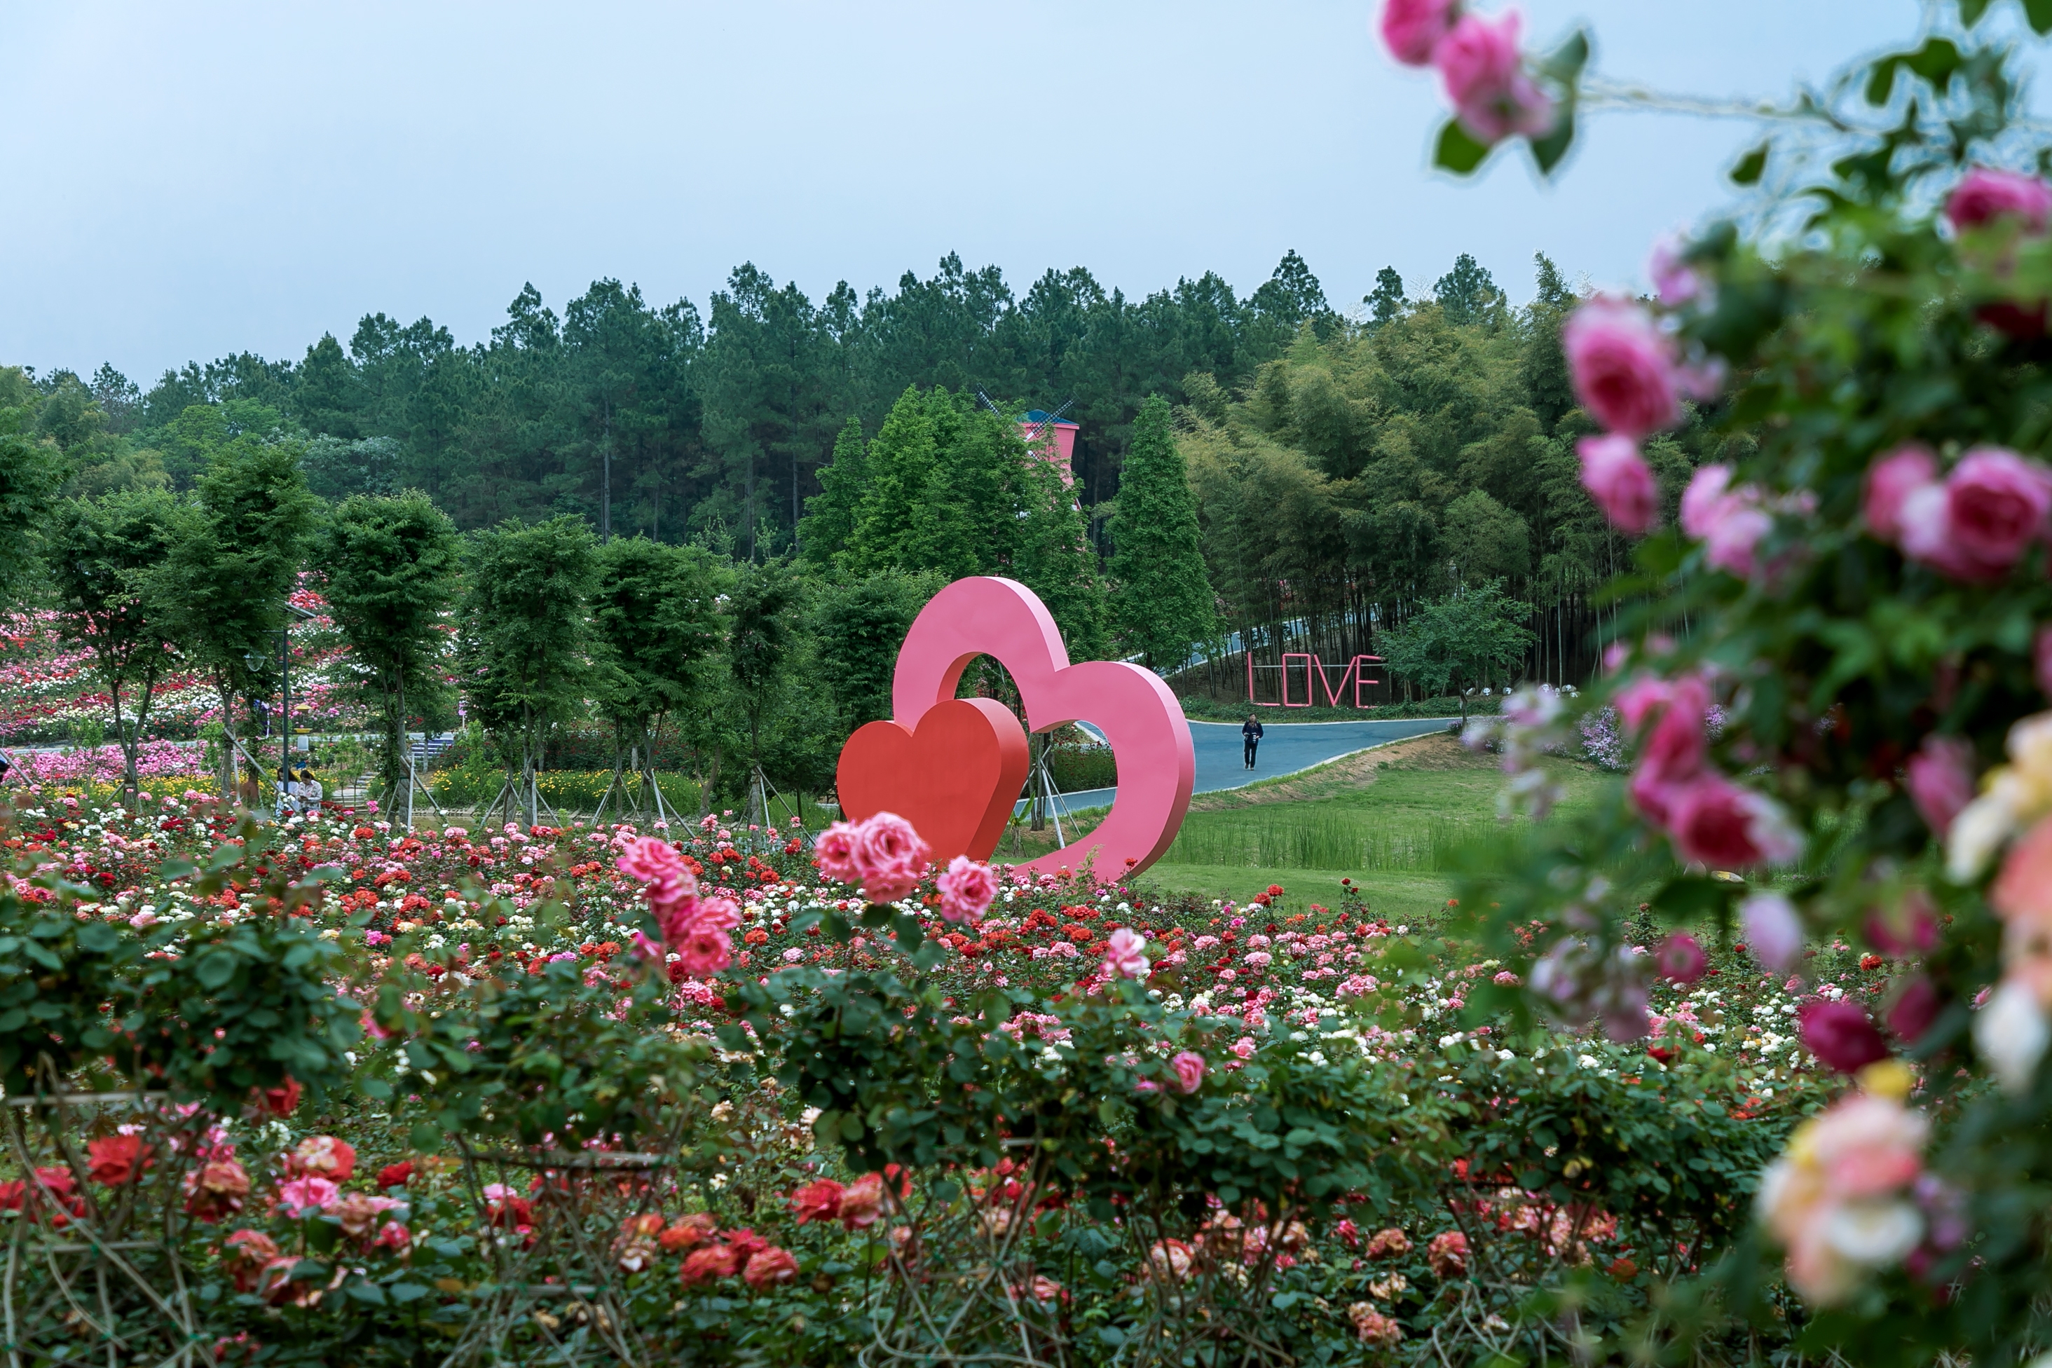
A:
{"label": "blurred climbing rose bush with pink blooms filling the right foreground", "polygon": [[[1789,974],[1845,1091],[1767,1169],[1757,1247],[1674,1304],[1861,1364],[2025,1362],[2048,1339],[2052,185],[1999,8],[1939,6],[1863,64],[1828,100],[1828,158],[1802,137],[1748,154],[1734,178],[1785,189],[1754,230],[1664,244],[1658,304],[1570,318],[1576,394],[1613,433],[1584,441],[1584,480],[1637,541],[1586,708],[1615,708],[1635,753],[1463,896],[1490,952],[1529,964],[1527,1007],[1617,1040],[1654,1023],[1654,966],[1627,954],[1646,915],[1736,923]],[[1652,529],[1619,439],[1683,396],[1732,459]],[[1888,989],[1820,982],[1814,937]]]}

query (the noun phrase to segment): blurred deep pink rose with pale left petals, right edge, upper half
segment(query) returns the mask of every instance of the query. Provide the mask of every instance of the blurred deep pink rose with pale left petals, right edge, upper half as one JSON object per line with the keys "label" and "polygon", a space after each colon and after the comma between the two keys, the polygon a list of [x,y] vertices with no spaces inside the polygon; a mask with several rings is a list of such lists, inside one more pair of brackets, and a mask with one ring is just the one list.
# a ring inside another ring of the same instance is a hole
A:
{"label": "blurred deep pink rose with pale left petals, right edge, upper half", "polygon": [[2001,447],[1960,457],[1943,486],[1902,498],[1902,554],[1958,580],[1988,582],[2009,574],[2044,535],[2052,511],[2052,472]]}

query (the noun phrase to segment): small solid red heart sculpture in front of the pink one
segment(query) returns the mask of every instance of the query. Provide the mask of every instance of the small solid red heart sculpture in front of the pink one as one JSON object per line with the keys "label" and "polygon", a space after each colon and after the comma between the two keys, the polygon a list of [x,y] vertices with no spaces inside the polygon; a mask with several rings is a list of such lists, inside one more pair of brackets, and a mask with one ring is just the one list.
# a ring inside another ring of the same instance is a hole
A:
{"label": "small solid red heart sculpture in front of the pink one", "polygon": [[841,816],[860,822],[897,812],[938,866],[956,855],[989,859],[1026,786],[1026,732],[1003,703],[956,697],[917,728],[870,722],[841,747],[835,788]]}

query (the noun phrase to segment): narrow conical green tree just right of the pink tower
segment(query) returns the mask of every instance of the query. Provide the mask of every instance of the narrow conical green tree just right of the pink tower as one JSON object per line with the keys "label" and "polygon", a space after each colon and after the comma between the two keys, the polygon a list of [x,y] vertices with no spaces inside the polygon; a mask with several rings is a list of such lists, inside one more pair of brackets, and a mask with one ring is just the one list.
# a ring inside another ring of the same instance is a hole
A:
{"label": "narrow conical green tree just right of the pink tower", "polygon": [[1196,498],[1161,396],[1149,398],[1133,423],[1108,531],[1120,646],[1157,671],[1182,669],[1217,619],[1198,550]]}

